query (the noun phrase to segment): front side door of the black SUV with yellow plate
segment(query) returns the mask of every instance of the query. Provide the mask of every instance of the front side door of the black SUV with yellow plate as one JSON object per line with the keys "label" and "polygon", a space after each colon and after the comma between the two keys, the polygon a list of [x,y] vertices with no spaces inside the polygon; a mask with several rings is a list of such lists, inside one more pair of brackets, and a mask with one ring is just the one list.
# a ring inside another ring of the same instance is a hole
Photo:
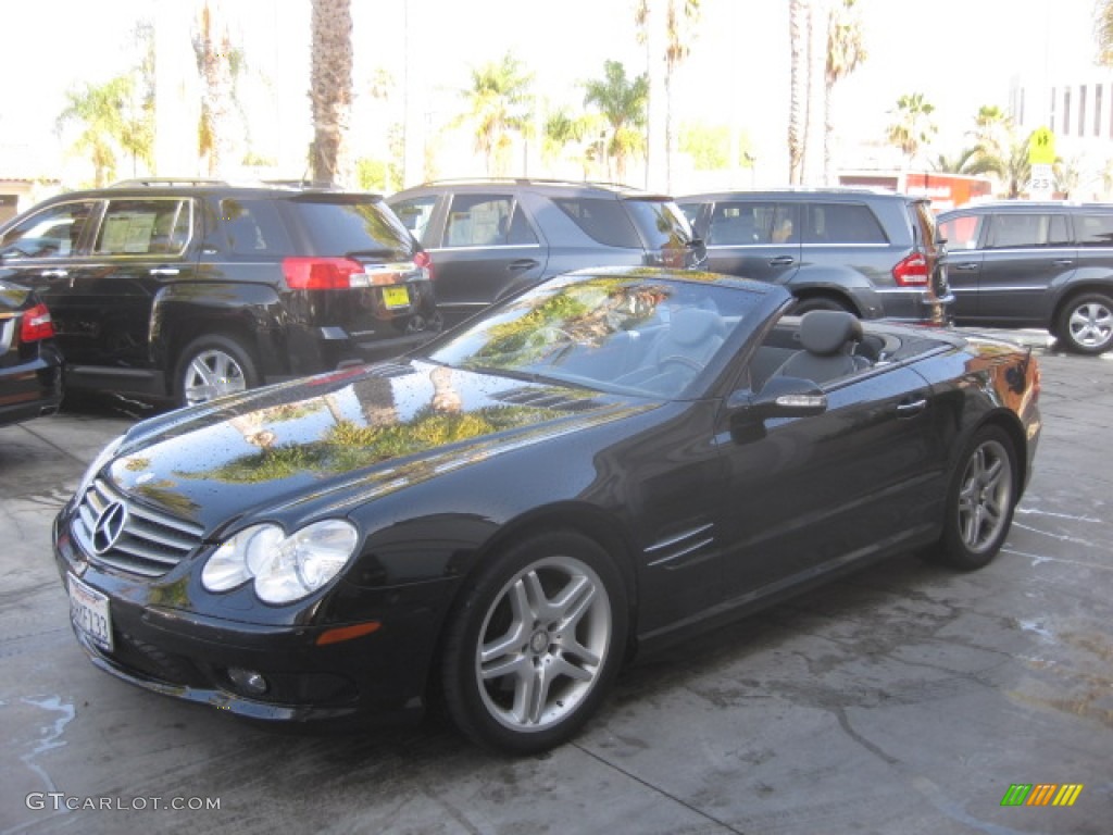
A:
{"label": "front side door of the black SUV with yellow plate", "polygon": [[50,308],[68,362],[89,360],[77,277],[89,263],[88,238],[102,208],[104,202],[95,198],[52,203],[0,238],[0,276],[38,293]]}

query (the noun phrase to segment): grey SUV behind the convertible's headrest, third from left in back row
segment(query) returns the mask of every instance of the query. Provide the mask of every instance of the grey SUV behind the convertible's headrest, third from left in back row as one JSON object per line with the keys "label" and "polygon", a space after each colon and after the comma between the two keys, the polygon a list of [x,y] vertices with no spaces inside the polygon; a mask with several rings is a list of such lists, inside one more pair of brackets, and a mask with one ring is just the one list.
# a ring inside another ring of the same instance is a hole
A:
{"label": "grey SUV behind the convertible's headrest, third from left in back row", "polygon": [[947,321],[952,297],[926,198],[863,189],[678,197],[707,269],[784,284],[800,313]]}

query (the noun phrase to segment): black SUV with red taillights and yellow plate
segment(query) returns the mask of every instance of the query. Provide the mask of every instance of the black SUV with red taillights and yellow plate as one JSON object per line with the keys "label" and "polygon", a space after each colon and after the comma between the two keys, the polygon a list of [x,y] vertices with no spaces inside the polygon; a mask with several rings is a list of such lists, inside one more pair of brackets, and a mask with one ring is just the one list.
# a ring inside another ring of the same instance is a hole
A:
{"label": "black SUV with red taillights and yellow plate", "polygon": [[440,328],[429,256],[382,198],[130,181],[0,226],[0,278],[38,291],[69,390],[198,403],[401,353]]}

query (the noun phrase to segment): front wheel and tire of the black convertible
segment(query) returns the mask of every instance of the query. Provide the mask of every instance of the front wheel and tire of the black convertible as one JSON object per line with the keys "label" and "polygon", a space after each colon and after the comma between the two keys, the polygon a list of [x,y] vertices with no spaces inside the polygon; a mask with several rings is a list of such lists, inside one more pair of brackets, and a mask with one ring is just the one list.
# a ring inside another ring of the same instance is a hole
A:
{"label": "front wheel and tire of the black convertible", "polygon": [[565,531],[512,544],[467,583],[447,620],[449,715],[503,753],[568,741],[618,675],[627,620],[622,578],[594,541]]}

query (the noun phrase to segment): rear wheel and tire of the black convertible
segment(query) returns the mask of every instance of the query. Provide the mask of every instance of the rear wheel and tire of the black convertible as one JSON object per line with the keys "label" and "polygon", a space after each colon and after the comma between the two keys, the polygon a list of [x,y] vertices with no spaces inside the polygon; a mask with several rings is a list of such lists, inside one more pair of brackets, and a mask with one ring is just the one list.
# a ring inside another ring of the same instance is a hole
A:
{"label": "rear wheel and tire of the black convertible", "polygon": [[963,571],[988,566],[1013,523],[1016,477],[1016,450],[1008,434],[997,426],[978,430],[955,463],[943,537],[932,556]]}

